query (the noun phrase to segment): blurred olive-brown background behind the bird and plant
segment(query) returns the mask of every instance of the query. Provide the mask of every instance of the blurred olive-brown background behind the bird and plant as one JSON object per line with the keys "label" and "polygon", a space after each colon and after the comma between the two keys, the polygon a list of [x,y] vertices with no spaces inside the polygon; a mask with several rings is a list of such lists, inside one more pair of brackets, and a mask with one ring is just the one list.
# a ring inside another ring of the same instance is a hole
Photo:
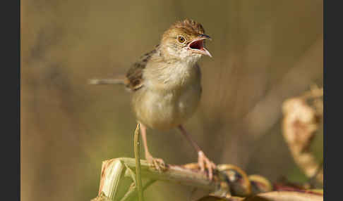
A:
{"label": "blurred olive-brown background behind the bird and plant", "polygon": [[[306,177],[282,138],[282,102],[323,86],[322,0],[21,1],[21,200],[90,200],[103,160],[133,157],[136,120],[124,74],[172,22],[192,18],[212,37],[200,60],[203,98],[186,128],[215,163],[271,181]],[[171,164],[197,154],[179,131],[148,131]],[[323,130],[313,151],[323,158]],[[191,188],[155,183],[147,200],[187,200]]]}

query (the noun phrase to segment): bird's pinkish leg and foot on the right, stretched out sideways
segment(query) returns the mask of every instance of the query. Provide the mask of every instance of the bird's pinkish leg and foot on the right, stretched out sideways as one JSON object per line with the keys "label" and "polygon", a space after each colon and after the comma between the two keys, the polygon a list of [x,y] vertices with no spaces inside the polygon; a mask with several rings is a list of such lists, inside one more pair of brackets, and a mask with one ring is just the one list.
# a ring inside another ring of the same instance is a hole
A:
{"label": "bird's pinkish leg and foot on the right, stretched out sideways", "polygon": [[191,136],[187,133],[186,129],[184,129],[182,125],[179,125],[179,129],[183,136],[187,138],[187,140],[193,145],[198,153],[198,165],[200,167],[200,171],[205,171],[206,168],[208,170],[208,176],[210,180],[212,180],[213,171],[217,168],[216,165],[205,156],[199,145],[193,141]]}

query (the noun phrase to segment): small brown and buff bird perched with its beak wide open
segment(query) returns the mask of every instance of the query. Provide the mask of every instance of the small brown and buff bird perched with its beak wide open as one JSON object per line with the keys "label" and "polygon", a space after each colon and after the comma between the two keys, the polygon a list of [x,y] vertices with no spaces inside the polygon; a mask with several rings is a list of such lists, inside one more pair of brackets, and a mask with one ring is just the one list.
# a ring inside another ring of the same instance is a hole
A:
{"label": "small brown and buff bird perched with its beak wide open", "polygon": [[145,158],[157,169],[164,167],[161,159],[149,153],[146,129],[166,131],[179,128],[198,153],[201,171],[216,168],[191,139],[183,124],[193,115],[201,96],[201,73],[198,60],[211,56],[205,48],[210,39],[200,23],[194,20],[175,22],[162,35],[160,44],[133,64],[124,79],[93,79],[91,84],[124,84],[132,91],[136,114],[145,148]]}

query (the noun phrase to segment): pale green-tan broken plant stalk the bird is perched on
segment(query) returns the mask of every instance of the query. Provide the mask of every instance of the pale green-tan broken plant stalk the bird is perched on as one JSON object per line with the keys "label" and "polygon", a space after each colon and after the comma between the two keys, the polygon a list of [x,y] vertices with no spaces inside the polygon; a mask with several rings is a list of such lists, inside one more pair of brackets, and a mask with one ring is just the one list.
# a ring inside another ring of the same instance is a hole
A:
{"label": "pale green-tan broken plant stalk the bird is perched on", "polygon": [[[212,191],[222,190],[220,188],[223,180],[217,174],[214,180],[210,181],[205,174],[195,169],[169,164],[165,171],[157,171],[146,160],[140,160],[140,165],[140,174],[150,179],[145,183],[143,190],[148,188],[155,180],[169,181]],[[135,169],[136,160],[134,158],[121,157],[102,162],[99,193],[93,200],[109,199],[127,201],[135,198],[137,196]],[[133,181],[131,186],[123,186],[123,178],[130,178]],[[119,197],[119,187],[128,189],[124,197]]]}

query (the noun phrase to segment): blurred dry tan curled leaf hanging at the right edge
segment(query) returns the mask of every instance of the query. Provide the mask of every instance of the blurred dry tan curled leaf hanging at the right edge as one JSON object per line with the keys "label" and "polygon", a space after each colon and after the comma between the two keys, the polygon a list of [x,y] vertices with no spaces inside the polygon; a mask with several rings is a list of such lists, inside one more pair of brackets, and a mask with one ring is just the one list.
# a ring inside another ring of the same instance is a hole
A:
{"label": "blurred dry tan curled leaf hanging at the right edge", "polygon": [[[323,118],[323,88],[312,89],[303,96],[289,98],[284,101],[282,110],[283,136],[296,164],[306,176],[323,183],[323,169],[318,170],[320,164],[316,162],[309,146],[318,130],[320,119]],[[311,102],[311,103],[310,103]]]}

